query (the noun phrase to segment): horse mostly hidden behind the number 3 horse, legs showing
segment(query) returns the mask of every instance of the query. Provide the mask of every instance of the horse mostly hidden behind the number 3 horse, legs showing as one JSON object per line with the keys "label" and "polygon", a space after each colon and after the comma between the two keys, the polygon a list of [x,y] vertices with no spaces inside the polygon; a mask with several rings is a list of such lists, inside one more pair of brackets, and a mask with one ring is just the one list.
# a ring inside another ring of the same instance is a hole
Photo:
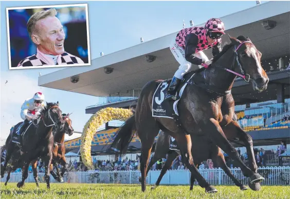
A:
{"label": "horse mostly hidden behind the number 3 horse, legs showing", "polygon": [[[156,189],[159,186],[160,181],[162,180],[162,177],[165,175],[167,170],[171,167],[173,160],[175,160],[175,158],[179,155],[179,151],[170,150],[169,140],[170,140],[170,136],[168,134],[162,131],[159,133],[157,141],[156,141],[154,155],[151,158],[148,168],[151,168],[154,163],[160,160],[160,158],[165,157],[166,154],[168,156],[167,156],[165,165],[162,167],[160,175],[155,183],[155,186],[152,187],[151,189]],[[248,189],[239,180],[237,180],[237,178],[234,177],[234,175],[231,173],[231,171],[226,165],[224,154],[222,153],[221,149],[217,147],[215,144],[213,144],[207,136],[195,135],[193,137],[193,135],[191,135],[191,142],[192,142],[191,154],[192,154],[195,165],[199,165],[201,162],[206,161],[207,159],[211,159],[213,160],[213,163],[216,163],[225,171],[225,173],[231,178],[234,184],[240,187],[242,191]],[[149,172],[149,169],[147,170],[146,175],[148,175],[148,172]],[[193,183],[194,183],[194,176],[191,175],[189,190],[193,189]]]}

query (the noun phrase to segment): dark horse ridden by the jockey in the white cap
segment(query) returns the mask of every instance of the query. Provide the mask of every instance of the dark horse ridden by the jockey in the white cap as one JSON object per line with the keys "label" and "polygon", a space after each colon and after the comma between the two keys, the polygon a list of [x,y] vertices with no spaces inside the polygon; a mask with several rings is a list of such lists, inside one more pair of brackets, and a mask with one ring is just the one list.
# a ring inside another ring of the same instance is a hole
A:
{"label": "dark horse ridden by the jockey in the white cap", "polygon": [[[32,160],[41,157],[45,165],[45,181],[46,187],[50,188],[50,171],[49,166],[52,160],[52,149],[53,149],[53,135],[52,130],[55,128],[56,131],[62,130],[64,127],[64,121],[62,118],[62,111],[59,108],[59,102],[47,103],[47,105],[41,109],[37,120],[34,120],[24,131],[22,135],[22,142],[20,145],[21,156],[20,159],[24,165],[22,172],[22,181],[17,183],[17,187],[22,187],[24,181],[28,176],[28,166]],[[35,124],[34,122],[37,121]],[[4,169],[1,170],[1,177],[4,177],[7,163],[10,160],[14,150],[19,148],[15,143],[12,143],[12,133],[16,131],[21,123],[15,125],[13,130],[6,140],[6,158],[4,163]]]}

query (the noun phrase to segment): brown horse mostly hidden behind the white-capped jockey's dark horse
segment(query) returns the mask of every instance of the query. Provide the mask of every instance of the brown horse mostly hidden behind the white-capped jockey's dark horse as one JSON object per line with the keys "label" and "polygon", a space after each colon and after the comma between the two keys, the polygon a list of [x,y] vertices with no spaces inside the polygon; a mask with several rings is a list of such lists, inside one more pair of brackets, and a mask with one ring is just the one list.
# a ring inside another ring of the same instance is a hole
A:
{"label": "brown horse mostly hidden behind the white-capped jockey's dark horse", "polygon": [[[55,142],[55,147],[53,148],[52,151],[52,161],[51,161],[51,165],[50,165],[50,173],[53,176],[53,178],[55,178],[57,181],[59,182],[63,182],[62,180],[62,176],[64,174],[65,171],[67,171],[68,168],[68,164],[65,161],[65,147],[64,147],[64,135],[65,133],[68,134],[69,136],[71,136],[74,133],[74,129],[71,126],[71,120],[69,118],[69,114],[62,114],[63,116],[63,120],[65,121],[64,124],[64,129],[63,130],[59,130],[56,133],[54,133],[54,142]],[[61,146],[59,148],[59,145]],[[16,152],[13,153],[13,157],[11,158],[12,162],[8,168],[8,175],[6,178],[6,182],[5,185],[7,185],[9,179],[10,179],[10,173],[12,171],[15,171],[17,168],[22,168],[23,164],[20,160],[20,150],[17,150]],[[31,166],[32,166],[32,170],[33,170],[33,177],[35,180],[35,183],[37,184],[37,186],[39,187],[39,182],[38,182],[38,171],[37,171],[37,162],[38,159],[31,161]],[[62,170],[62,173],[60,174],[59,168],[57,167],[57,163],[60,163],[64,168]],[[57,174],[52,170],[53,167],[52,165],[56,166],[57,169]]]}

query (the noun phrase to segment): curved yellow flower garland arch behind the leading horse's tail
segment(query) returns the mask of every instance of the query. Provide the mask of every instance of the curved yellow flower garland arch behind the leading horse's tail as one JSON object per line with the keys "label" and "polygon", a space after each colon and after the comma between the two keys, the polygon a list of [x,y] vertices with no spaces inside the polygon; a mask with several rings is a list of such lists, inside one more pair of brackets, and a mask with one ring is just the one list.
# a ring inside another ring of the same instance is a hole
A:
{"label": "curved yellow flower garland arch behind the leading horse's tail", "polygon": [[104,123],[112,120],[126,121],[132,115],[131,109],[105,108],[92,115],[84,126],[80,147],[83,164],[88,170],[94,169],[90,147],[97,129]]}

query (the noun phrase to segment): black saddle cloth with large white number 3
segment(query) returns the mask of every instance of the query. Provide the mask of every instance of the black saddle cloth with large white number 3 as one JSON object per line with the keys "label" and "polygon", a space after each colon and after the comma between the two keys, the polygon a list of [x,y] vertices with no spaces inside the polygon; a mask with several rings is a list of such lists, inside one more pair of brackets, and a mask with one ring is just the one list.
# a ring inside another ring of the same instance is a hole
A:
{"label": "black saddle cloth with large white number 3", "polygon": [[173,119],[174,114],[178,115],[177,103],[179,102],[179,99],[182,97],[183,91],[185,87],[188,85],[188,82],[190,81],[192,76],[188,79],[188,81],[184,84],[184,86],[180,88],[180,90],[179,89],[177,90],[177,100],[173,103],[173,105],[169,100],[164,101],[171,79],[166,79],[165,81],[162,81],[158,85],[157,89],[153,94],[152,99],[153,117],[168,117]]}

